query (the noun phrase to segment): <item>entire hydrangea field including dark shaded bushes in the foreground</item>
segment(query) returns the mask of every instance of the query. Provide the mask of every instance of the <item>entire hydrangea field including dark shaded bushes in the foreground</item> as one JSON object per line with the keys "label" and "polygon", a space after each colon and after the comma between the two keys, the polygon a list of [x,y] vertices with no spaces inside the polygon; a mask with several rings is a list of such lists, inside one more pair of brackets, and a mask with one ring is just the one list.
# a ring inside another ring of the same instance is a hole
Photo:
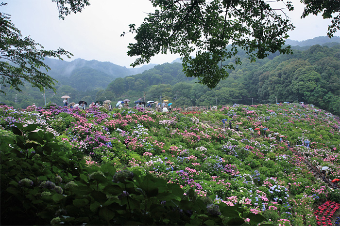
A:
{"label": "entire hydrangea field including dark shaded bushes in the foreground", "polygon": [[[340,224],[340,189],[316,179],[292,152],[318,169],[328,166],[329,180],[340,179],[340,118],[312,105],[167,114],[4,105],[0,116],[3,222],[32,216],[27,224]],[[233,128],[241,122],[240,130],[223,129],[223,119]],[[248,128],[269,128],[290,147]],[[196,210],[194,201],[203,207]]]}

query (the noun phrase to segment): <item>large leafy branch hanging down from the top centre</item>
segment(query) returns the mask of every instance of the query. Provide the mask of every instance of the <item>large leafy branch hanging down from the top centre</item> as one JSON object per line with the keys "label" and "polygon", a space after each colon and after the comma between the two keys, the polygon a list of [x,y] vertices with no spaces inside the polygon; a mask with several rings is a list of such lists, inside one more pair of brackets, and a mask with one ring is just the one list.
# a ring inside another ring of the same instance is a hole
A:
{"label": "large leafy branch hanging down from the top centre", "polygon": [[[137,34],[128,55],[139,56],[133,66],[158,53],[179,53],[186,75],[214,88],[228,76],[228,69],[241,63],[238,48],[252,60],[269,52],[291,52],[282,45],[293,25],[264,0],[153,0],[153,6],[160,10],[149,14],[138,29],[130,25]],[[290,3],[285,6],[292,10]],[[223,63],[230,58],[235,60]]]}

